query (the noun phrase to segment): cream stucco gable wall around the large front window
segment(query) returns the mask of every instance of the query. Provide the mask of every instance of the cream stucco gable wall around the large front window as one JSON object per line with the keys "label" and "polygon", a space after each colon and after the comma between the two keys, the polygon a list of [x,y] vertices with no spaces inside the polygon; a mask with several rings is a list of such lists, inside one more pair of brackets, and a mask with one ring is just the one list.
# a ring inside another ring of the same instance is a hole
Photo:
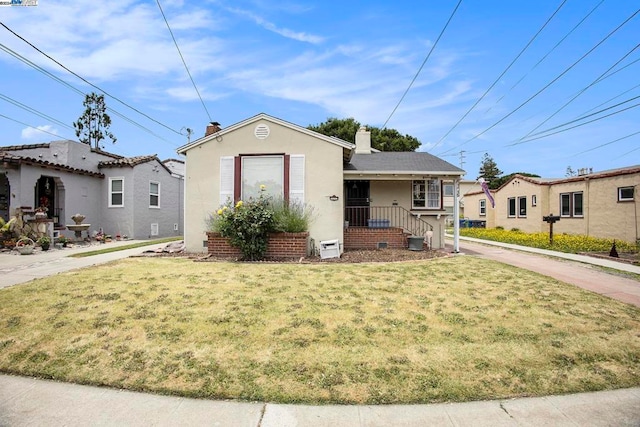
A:
{"label": "cream stucco gable wall around the large front window", "polygon": [[[270,128],[267,139],[257,139],[255,127]],[[222,137],[211,138],[186,152],[185,244],[190,252],[206,252],[206,219],[219,207],[220,157],[238,154],[303,154],[305,156],[305,203],[313,208],[309,234],[315,247],[321,240],[342,243],[344,197],[342,195],[342,148],[289,127],[258,120]]]}

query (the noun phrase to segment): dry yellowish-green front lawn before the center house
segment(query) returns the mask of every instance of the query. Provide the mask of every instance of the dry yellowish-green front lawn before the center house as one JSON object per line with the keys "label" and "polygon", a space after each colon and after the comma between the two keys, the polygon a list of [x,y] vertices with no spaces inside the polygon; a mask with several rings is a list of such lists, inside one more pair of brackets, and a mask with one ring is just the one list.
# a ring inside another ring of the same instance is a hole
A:
{"label": "dry yellowish-green front lawn before the center house", "polygon": [[0,291],[0,370],[216,399],[418,403],[640,385],[640,309],[473,257],[135,258]]}

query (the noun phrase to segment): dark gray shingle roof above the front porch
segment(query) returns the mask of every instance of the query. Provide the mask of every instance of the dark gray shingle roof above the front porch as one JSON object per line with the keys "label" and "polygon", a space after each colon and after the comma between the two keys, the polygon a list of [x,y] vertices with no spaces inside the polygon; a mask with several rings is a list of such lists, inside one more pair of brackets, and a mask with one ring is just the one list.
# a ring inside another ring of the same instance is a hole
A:
{"label": "dark gray shingle roof above the front porch", "polygon": [[462,175],[464,170],[429,153],[424,152],[379,152],[354,154],[346,171],[358,172],[447,172]]}

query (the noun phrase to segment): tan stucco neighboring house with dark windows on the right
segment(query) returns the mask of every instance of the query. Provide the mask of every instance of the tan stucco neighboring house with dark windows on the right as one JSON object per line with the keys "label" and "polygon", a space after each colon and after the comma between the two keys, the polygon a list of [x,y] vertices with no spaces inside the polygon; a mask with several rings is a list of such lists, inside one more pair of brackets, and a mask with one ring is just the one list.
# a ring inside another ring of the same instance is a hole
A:
{"label": "tan stucco neighboring house with dark windows on the right", "polygon": [[[588,172],[588,173],[587,173]],[[640,166],[602,172],[581,170],[575,177],[530,178],[515,175],[497,190],[491,208],[481,191],[465,197],[465,216],[486,220],[488,228],[534,233],[549,231],[544,216],[558,215],[554,233],[625,240],[640,239]]]}

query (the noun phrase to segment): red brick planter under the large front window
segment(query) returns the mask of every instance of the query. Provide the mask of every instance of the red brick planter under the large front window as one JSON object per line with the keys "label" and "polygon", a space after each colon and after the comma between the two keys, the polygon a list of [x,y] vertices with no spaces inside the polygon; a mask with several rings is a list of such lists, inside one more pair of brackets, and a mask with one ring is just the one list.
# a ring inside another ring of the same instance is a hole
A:
{"label": "red brick planter under the large front window", "polygon": [[[308,255],[309,233],[273,233],[269,236],[265,259],[301,258]],[[240,259],[240,249],[220,233],[207,232],[207,253],[217,258]]]}

